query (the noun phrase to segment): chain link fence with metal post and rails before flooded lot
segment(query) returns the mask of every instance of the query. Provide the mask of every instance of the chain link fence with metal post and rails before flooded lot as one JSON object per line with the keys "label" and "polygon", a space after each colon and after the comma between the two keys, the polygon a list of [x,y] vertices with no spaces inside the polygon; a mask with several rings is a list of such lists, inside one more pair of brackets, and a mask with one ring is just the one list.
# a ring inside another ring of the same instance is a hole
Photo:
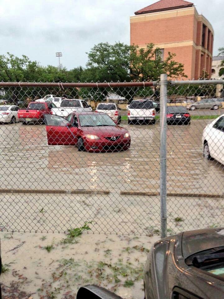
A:
{"label": "chain link fence with metal post and rails before flooded lot", "polygon": [[222,225],[223,83],[0,83],[1,230]]}

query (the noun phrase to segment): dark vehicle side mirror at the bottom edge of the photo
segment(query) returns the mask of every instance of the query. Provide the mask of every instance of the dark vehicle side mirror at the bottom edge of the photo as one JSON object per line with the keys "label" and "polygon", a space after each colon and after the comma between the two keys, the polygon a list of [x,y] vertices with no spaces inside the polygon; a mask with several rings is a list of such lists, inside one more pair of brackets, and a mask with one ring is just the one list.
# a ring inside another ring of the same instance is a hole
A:
{"label": "dark vehicle side mirror at the bottom edge of the photo", "polygon": [[76,299],[122,299],[116,294],[96,285],[88,285],[78,290]]}

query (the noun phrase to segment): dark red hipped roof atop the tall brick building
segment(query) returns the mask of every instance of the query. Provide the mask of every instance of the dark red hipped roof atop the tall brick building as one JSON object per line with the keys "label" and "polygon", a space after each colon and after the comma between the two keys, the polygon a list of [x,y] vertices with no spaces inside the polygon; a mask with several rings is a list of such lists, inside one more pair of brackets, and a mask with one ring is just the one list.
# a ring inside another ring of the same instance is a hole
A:
{"label": "dark red hipped roof atop the tall brick building", "polygon": [[160,0],[152,5],[144,7],[137,12],[135,15],[141,15],[143,13],[150,13],[150,12],[161,12],[166,10],[172,10],[177,8],[185,8],[185,7],[193,7],[194,3],[184,1],[184,0]]}

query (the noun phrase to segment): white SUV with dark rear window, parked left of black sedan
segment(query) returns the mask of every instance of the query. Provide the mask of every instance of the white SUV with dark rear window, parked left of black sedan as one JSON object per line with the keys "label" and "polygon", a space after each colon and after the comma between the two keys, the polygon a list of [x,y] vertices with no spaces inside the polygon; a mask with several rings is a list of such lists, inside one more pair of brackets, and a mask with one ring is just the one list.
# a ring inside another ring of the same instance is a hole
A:
{"label": "white SUV with dark rear window, parked left of black sedan", "polygon": [[128,124],[143,122],[155,124],[155,108],[151,100],[133,100],[128,105]]}

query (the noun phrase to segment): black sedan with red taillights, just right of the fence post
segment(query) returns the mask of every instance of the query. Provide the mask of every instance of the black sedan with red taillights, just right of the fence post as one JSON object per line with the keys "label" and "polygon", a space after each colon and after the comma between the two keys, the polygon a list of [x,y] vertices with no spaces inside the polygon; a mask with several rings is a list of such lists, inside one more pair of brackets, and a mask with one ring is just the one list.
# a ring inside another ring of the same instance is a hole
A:
{"label": "black sedan with red taillights, just right of the fence post", "polygon": [[190,125],[190,114],[184,106],[167,106],[167,125]]}

